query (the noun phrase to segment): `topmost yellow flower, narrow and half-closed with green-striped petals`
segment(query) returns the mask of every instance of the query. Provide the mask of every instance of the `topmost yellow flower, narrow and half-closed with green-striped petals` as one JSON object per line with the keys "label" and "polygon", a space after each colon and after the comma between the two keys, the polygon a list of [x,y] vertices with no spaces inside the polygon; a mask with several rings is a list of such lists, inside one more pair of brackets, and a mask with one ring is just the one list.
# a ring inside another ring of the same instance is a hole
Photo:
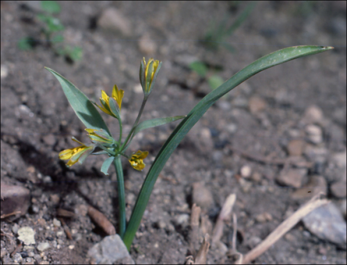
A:
{"label": "topmost yellow flower, narrow and half-closed with green-striped petals", "polygon": [[145,58],[143,58],[143,60],[141,61],[140,83],[142,86],[143,93],[146,97],[152,91],[161,66],[162,62],[159,60],[154,60],[153,58],[150,58],[147,64]]}

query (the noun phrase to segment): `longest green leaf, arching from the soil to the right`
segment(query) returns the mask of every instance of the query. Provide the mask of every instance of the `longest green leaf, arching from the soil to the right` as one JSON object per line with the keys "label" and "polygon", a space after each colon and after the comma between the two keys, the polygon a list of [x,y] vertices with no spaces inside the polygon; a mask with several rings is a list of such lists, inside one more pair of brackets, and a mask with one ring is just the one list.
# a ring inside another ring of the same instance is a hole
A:
{"label": "longest green leaf, arching from the soil to the right", "polygon": [[143,182],[140,193],[137,197],[136,204],[131,213],[129,223],[123,237],[123,242],[127,249],[130,249],[131,242],[140,225],[143,212],[146,209],[149,197],[152,193],[154,184],[156,183],[160,171],[162,171],[166,161],[170,158],[171,154],[182,141],[184,136],[202,117],[207,109],[209,109],[210,106],[212,106],[218,99],[227,94],[237,85],[265,69],[293,60],[295,58],[315,53],[322,53],[331,49],[333,49],[333,47],[295,46],[270,53],[249,64],[241,71],[234,74],[219,88],[211,91],[208,95],[206,95],[174,129],[173,133],[160,149],[156,159],[149,169],[146,179]]}

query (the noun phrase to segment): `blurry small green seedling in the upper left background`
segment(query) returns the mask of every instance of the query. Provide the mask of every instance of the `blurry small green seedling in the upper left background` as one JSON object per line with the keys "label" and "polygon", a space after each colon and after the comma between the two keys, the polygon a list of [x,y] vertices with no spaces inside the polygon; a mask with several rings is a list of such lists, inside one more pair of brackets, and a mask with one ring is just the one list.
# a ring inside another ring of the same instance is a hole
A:
{"label": "blurry small green seedling in the upper left background", "polygon": [[33,50],[37,45],[52,49],[55,53],[64,56],[67,61],[73,62],[82,58],[82,48],[65,45],[64,37],[60,34],[65,28],[55,14],[60,12],[60,5],[56,1],[40,1],[42,12],[36,18],[41,22],[40,30],[43,38],[25,37],[18,42],[19,49]]}

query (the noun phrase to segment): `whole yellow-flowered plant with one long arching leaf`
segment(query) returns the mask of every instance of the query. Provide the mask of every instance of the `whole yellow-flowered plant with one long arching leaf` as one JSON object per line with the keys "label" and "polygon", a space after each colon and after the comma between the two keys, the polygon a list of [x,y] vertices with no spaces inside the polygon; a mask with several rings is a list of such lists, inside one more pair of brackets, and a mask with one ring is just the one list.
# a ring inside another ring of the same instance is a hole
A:
{"label": "whole yellow-flowered plant with one long arching leaf", "polygon": [[[161,61],[154,60],[153,58],[150,58],[146,63],[145,58],[143,58],[140,64],[139,77],[144,98],[137,118],[132,125],[129,134],[124,137],[125,139],[122,134],[122,121],[120,115],[122,99],[124,94],[126,94],[123,90],[118,89],[115,85],[111,96],[108,96],[105,91],[101,91],[100,105],[98,105],[90,101],[67,79],[54,70],[47,68],[47,70],[49,70],[60,82],[65,96],[74,109],[76,115],[87,127],[86,132],[90,138],[90,143],[82,143],[77,139],[72,138],[79,144],[79,146],[61,151],[59,153],[59,158],[68,160],[67,166],[72,166],[77,162],[82,163],[91,154],[105,155],[106,159],[101,166],[101,171],[105,174],[108,174],[108,169],[112,163],[115,165],[119,202],[118,234],[123,239],[125,246],[129,250],[131,242],[140,225],[143,213],[147,207],[154,184],[166,161],[170,158],[175,148],[179,145],[194,124],[218,99],[223,97],[243,81],[267,68],[295,58],[315,53],[322,53],[331,49],[333,49],[333,47],[296,46],[270,53],[249,64],[217,89],[211,91],[187,115],[156,118],[139,122],[147,99],[153,90],[159,69],[162,65]],[[95,106],[118,121],[119,137],[117,139],[112,136],[111,131]],[[174,129],[173,133],[169,136],[168,140],[165,142],[152,163],[138,194],[130,219],[127,222],[125,217],[125,194],[121,158],[125,157],[134,169],[141,171],[145,167],[143,160],[148,156],[148,151],[138,150],[136,153],[127,154],[126,150],[133,137],[144,129],[167,124],[178,119],[183,120]]]}

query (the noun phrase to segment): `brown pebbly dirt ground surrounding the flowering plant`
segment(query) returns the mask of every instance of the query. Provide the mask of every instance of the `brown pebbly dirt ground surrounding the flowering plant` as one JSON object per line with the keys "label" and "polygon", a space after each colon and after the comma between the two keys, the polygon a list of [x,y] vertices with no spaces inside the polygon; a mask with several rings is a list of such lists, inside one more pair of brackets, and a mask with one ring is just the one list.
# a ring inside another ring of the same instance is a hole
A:
{"label": "brown pebbly dirt ground surrounding the flowering plant", "polygon": [[[143,56],[159,59],[163,66],[142,120],[184,115],[208,93],[207,82],[189,69],[192,61],[215,66],[227,80],[255,59],[285,47],[335,47],[263,71],[209,109],[158,178],[130,251],[136,264],[184,264],[194,202],[214,225],[225,199],[236,194],[237,250],[243,254],[309,199],[298,191],[317,175],[329,199],[336,205],[346,203],[346,197],[338,198],[331,188],[341,170],[330,159],[346,150],[346,1],[259,1],[223,40],[233,52],[207,49],[205,33],[224,17],[230,25],[249,4],[237,2],[59,1],[65,43],[83,48],[83,58],[71,63],[42,45],[19,50],[19,39],[40,37],[37,10],[23,5],[26,1],[1,1],[1,185],[26,187],[31,196],[25,215],[1,219],[1,264],[89,264],[88,249],[105,233],[81,211],[85,205],[103,212],[117,228],[116,174],[113,168],[109,176],[100,172],[105,157],[91,156],[71,168],[58,159],[61,150],[75,146],[71,136],[82,142],[88,137],[44,66],[96,102],[101,89],[111,93],[117,84],[125,91],[126,132],[143,97],[138,89]],[[120,30],[101,25],[100,17],[110,8],[124,17],[118,21],[123,23]],[[103,117],[116,134],[114,120]],[[128,217],[151,162],[176,124],[145,130],[134,138],[128,152],[148,150],[150,155],[143,172],[123,160]],[[318,139],[307,126],[316,129]],[[284,164],[269,161],[288,158],[293,140],[302,144],[296,155],[312,163],[298,181],[283,183],[278,176]],[[323,159],[315,159],[319,152]],[[193,188],[194,183],[201,188]],[[64,219],[71,240],[57,221],[58,208],[76,213]],[[36,232],[36,245],[17,249],[18,258],[10,254],[19,243],[15,231],[24,226]],[[228,222],[222,237],[227,249],[231,227]],[[36,247],[42,242],[50,247],[39,251]],[[215,248],[207,263],[231,260]],[[346,264],[346,250],[320,240],[300,222],[254,264]]]}

